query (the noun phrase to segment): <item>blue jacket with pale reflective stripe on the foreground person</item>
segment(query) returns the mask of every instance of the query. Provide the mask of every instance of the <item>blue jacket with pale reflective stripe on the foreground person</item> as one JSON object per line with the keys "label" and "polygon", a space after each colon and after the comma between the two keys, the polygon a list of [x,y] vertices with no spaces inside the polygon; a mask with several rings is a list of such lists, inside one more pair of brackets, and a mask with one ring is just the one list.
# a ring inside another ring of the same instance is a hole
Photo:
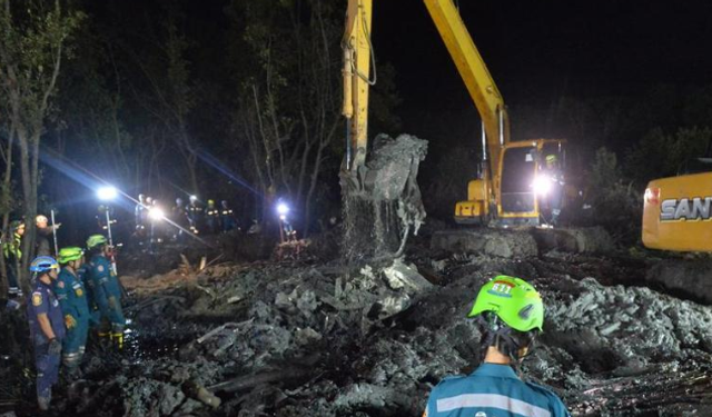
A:
{"label": "blue jacket with pale reflective stripe on the foreground person", "polygon": [[427,417],[570,416],[551,390],[521,380],[508,365],[483,364],[466,377],[445,378],[431,393]]}

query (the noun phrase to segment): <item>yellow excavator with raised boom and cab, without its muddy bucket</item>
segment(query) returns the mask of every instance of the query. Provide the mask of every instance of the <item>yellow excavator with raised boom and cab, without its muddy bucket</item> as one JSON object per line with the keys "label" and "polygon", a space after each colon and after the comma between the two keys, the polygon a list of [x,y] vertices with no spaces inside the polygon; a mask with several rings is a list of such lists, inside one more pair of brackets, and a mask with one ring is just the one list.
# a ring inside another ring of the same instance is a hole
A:
{"label": "yellow excavator with raised boom and cab, without its muddy bucket", "polygon": [[[423,0],[435,22],[457,70],[465,82],[483,123],[483,163],[481,178],[469,181],[467,200],[455,208],[458,222],[486,222],[493,217],[513,224],[537,225],[538,200],[533,181],[538,172],[538,156],[547,149],[561,151],[561,140],[536,139],[511,142],[510,120],[502,93],[477,51],[453,0]],[[368,149],[368,88],[373,48],[370,44],[372,0],[348,0],[344,49],[344,106],[347,118],[346,173],[356,188]],[[375,71],[374,71],[375,72]],[[510,152],[512,150],[512,152]],[[505,158],[510,155],[508,158]],[[505,168],[505,160],[508,160]],[[363,168],[363,169],[362,169]],[[517,178],[520,176],[521,178]]]}

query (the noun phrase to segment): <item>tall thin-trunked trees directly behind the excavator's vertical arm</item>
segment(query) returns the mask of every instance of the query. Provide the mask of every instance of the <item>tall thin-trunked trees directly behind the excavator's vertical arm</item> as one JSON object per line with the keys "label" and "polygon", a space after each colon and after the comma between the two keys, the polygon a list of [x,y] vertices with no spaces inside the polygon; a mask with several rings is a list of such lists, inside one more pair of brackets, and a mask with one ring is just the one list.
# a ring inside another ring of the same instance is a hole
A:
{"label": "tall thin-trunked trees directly behind the excavator's vertical arm", "polygon": [[[340,161],[344,148],[336,140],[344,132],[344,2],[326,0],[235,0],[231,8],[241,29],[233,44],[243,64],[238,142],[249,151],[263,195],[269,199],[279,192],[293,201],[305,231],[316,214],[325,168],[338,167],[327,162]],[[380,76],[385,88],[372,96],[372,115],[380,126],[394,126],[393,71]],[[332,173],[336,179],[336,169]]]}

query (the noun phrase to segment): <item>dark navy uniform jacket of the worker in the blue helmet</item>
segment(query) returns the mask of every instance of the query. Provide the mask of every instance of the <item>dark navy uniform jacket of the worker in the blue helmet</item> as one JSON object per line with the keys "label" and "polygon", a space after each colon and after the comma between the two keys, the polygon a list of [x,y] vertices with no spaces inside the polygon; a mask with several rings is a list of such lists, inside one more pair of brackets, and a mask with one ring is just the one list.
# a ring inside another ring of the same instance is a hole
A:
{"label": "dark navy uniform jacket of the worker in the blue helmet", "polygon": [[49,318],[49,322],[55,331],[55,337],[59,340],[65,338],[65,317],[62,309],[59,306],[59,300],[52,291],[51,285],[47,285],[39,279],[34,286],[34,290],[30,294],[29,302],[27,304],[27,317],[30,322],[30,335],[36,346],[44,345],[49,342],[44,332],[40,328],[38,315],[46,314]]}

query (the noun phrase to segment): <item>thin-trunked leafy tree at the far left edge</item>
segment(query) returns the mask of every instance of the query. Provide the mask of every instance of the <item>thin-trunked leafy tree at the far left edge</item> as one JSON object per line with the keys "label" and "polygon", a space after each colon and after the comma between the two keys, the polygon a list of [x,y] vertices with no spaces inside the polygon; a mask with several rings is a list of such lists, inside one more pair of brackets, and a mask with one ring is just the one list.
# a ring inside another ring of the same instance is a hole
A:
{"label": "thin-trunked leafy tree at the far left edge", "polygon": [[20,285],[29,291],[27,266],[33,255],[40,139],[52,110],[62,59],[83,14],[53,2],[0,0],[0,101],[20,149],[20,182],[27,219]]}

